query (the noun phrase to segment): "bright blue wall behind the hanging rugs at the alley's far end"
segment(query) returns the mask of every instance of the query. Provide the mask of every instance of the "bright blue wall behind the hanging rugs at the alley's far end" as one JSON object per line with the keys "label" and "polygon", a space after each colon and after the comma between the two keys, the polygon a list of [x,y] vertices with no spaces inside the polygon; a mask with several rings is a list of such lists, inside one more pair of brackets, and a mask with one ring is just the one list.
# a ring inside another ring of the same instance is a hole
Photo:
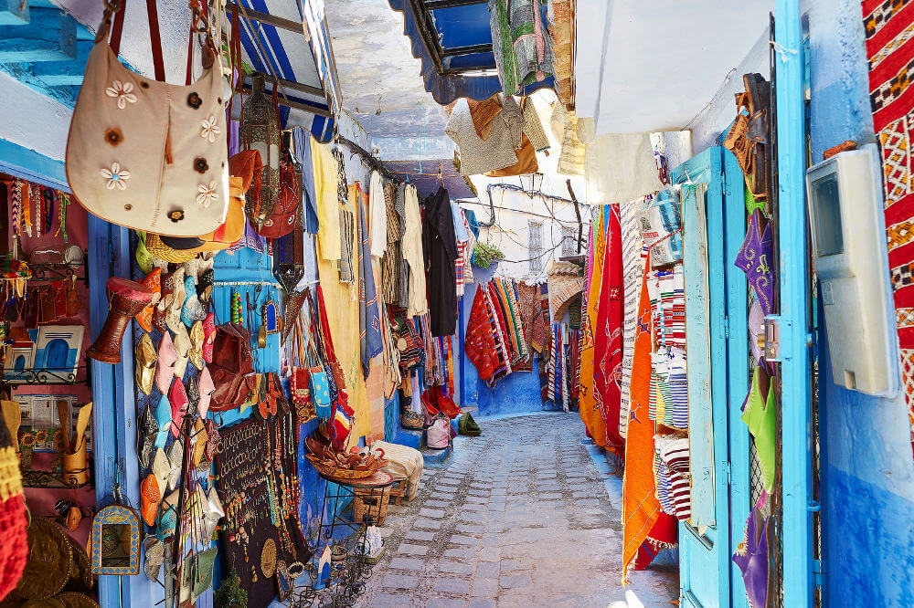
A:
{"label": "bright blue wall behind the hanging rugs at the alley's far end", "polygon": [[[467,285],[463,294],[461,307],[461,337],[466,334],[467,323],[470,320],[470,309],[473,308],[473,298],[476,297],[476,288],[480,283],[486,283],[494,276],[495,267],[483,269],[473,267],[473,278],[476,282]],[[544,407],[539,390],[539,372],[513,372],[499,380],[495,388],[489,388],[479,378],[476,367],[461,350],[462,359],[462,402],[464,407],[478,407],[480,416],[497,416],[504,414],[519,414],[523,412],[542,412],[549,409]],[[455,359],[456,361],[456,359]],[[456,367],[456,363],[454,364]],[[534,369],[537,367],[534,365]],[[551,405],[551,404],[550,404]]]}

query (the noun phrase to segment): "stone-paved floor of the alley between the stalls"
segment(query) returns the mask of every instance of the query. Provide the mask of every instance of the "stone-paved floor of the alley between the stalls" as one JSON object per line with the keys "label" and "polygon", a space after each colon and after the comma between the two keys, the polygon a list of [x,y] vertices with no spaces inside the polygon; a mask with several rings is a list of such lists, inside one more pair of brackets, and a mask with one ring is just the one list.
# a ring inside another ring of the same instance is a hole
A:
{"label": "stone-paved floor of the alley between the stalls", "polygon": [[580,441],[578,414],[479,421],[411,503],[390,504],[387,553],[357,606],[670,606],[678,573],[622,587],[621,483]]}

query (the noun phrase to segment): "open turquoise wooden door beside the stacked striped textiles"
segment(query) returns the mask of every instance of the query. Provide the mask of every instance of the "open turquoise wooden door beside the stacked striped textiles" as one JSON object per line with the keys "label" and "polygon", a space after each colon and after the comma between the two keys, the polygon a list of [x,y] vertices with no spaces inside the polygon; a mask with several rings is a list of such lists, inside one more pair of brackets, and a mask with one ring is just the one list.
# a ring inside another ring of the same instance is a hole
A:
{"label": "open turquoise wooden door beside the stacked striped textiles", "polygon": [[679,528],[681,605],[745,606],[730,561],[749,513],[746,278],[733,265],[746,234],[742,172],[723,148],[673,172],[682,185],[692,521]]}

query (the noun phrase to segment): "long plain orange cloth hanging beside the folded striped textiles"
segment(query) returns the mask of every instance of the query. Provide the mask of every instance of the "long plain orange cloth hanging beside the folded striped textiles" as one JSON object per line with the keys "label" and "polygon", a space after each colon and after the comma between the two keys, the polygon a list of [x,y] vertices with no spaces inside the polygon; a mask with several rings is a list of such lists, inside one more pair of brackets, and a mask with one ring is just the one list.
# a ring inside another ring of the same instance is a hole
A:
{"label": "long plain orange cloth hanging beside the folded striped textiles", "polygon": [[622,477],[622,583],[654,523],[660,503],[654,492],[654,422],[648,416],[651,384],[651,306],[647,295],[647,268],[638,300],[638,333],[632,362],[632,409],[625,441]]}

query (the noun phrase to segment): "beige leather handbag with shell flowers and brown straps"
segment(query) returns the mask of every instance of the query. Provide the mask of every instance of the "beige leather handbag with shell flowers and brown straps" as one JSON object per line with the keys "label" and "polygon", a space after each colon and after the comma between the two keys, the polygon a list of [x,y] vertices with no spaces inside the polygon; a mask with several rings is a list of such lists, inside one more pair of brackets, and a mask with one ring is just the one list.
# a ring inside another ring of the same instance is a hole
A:
{"label": "beige leather handbag with shell flowers and brown straps", "polygon": [[203,75],[193,85],[171,85],[155,0],[146,0],[155,79],[118,61],[125,2],[106,0],[90,52],[69,127],[70,189],[112,224],[168,236],[212,232],[228,209],[228,100],[206,19],[193,16],[193,33],[204,39]]}

